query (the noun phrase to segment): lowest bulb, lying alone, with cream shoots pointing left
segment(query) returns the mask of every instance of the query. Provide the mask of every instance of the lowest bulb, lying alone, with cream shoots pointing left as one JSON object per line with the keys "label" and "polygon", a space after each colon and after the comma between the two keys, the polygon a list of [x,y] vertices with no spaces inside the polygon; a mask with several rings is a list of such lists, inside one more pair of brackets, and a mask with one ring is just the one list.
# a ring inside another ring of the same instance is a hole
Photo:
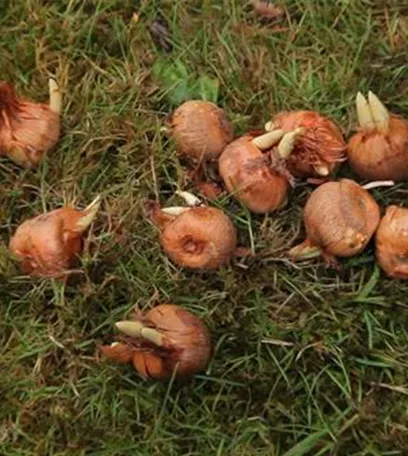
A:
{"label": "lowest bulb, lying alone, with cream shoots pointing left", "polygon": [[188,378],[204,371],[211,357],[211,337],[188,310],[162,304],[116,323],[121,335],[102,353],[117,363],[132,363],[145,378]]}

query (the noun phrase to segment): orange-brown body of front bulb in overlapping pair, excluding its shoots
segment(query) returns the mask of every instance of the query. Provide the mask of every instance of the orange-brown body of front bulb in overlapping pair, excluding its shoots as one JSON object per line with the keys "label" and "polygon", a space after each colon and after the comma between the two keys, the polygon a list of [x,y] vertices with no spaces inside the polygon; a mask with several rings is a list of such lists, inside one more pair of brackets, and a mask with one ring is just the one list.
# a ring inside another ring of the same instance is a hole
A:
{"label": "orange-brown body of front bulb in overlapping pair, excluding its shoots", "polygon": [[227,190],[251,212],[262,214],[286,202],[288,178],[268,163],[268,157],[244,136],[229,144],[219,159],[219,172]]}

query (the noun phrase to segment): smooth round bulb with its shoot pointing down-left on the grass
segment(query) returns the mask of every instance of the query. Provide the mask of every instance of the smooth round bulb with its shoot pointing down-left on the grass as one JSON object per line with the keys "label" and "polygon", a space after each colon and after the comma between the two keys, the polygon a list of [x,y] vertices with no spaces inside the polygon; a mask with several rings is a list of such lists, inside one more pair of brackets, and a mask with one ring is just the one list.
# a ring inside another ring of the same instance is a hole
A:
{"label": "smooth round bulb with its shoot pointing down-left on the grass", "polygon": [[303,219],[306,240],[289,255],[295,260],[323,255],[331,261],[365,248],[380,221],[380,209],[367,190],[350,179],[341,179],[312,192]]}

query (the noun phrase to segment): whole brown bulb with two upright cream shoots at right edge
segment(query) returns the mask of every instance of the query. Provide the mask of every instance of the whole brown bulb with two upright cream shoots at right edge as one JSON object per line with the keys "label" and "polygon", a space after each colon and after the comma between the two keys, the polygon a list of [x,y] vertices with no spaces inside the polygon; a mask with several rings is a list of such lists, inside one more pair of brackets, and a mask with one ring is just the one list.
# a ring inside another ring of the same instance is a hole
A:
{"label": "whole brown bulb with two upright cream shoots at right edge", "polygon": [[356,97],[358,131],[348,143],[349,163],[363,179],[408,178],[408,122],[390,113],[378,97]]}

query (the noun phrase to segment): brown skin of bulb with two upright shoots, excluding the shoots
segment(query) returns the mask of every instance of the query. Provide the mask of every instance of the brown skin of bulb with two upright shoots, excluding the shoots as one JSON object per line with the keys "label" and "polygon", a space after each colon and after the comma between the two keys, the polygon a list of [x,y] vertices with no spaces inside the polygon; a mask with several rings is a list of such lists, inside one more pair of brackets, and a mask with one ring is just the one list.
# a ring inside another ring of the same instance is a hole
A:
{"label": "brown skin of bulb with two upright shoots, excluding the shoots", "polygon": [[361,129],[350,138],[349,163],[362,179],[408,178],[408,122],[391,117],[387,132]]}

